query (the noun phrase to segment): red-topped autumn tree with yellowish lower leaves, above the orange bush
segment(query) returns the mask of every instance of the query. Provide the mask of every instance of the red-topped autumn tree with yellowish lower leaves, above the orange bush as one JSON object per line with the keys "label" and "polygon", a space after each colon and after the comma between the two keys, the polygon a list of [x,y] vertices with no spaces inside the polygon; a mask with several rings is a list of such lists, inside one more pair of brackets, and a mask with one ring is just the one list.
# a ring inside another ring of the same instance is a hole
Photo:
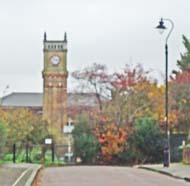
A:
{"label": "red-topped autumn tree with yellowish lower leaves, above the orange bush", "polygon": [[106,103],[105,112],[113,119],[113,123],[133,124],[136,117],[152,110],[155,100],[149,95],[154,89],[158,90],[158,87],[142,65],[126,65],[121,72],[112,75],[110,84],[112,99]]}

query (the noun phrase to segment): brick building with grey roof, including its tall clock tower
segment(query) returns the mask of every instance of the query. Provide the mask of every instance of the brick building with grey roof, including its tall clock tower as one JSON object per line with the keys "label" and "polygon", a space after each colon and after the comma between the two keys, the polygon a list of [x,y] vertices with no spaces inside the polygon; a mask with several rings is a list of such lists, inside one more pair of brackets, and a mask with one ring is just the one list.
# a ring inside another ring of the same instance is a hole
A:
{"label": "brick building with grey roof, including its tall clock tower", "polygon": [[1,99],[8,109],[30,108],[63,131],[68,118],[98,105],[95,94],[67,93],[67,35],[64,40],[43,40],[43,93],[11,93]]}

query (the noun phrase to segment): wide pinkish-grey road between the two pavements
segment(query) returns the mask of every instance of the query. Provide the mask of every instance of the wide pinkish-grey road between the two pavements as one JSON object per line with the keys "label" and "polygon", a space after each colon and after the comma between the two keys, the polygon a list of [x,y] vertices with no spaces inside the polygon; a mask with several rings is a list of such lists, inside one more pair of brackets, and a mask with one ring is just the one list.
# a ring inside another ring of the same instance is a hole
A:
{"label": "wide pinkish-grey road between the two pavements", "polygon": [[159,173],[127,167],[71,166],[46,168],[40,186],[187,186]]}

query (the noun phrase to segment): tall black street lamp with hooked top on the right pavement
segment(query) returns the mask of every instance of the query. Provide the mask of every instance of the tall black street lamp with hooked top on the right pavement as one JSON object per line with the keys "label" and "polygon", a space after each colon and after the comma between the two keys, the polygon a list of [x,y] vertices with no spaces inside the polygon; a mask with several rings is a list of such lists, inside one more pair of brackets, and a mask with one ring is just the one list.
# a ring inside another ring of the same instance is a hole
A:
{"label": "tall black street lamp with hooked top on the right pavement", "polygon": [[167,29],[164,25],[164,21],[168,21],[171,24],[170,31],[165,40],[165,60],[166,60],[166,69],[165,69],[165,124],[166,124],[166,144],[164,145],[164,167],[169,167],[170,165],[170,131],[168,127],[168,39],[171,35],[174,23],[171,19],[162,19],[159,22],[159,25],[156,29],[159,30],[159,33],[162,34],[165,29]]}

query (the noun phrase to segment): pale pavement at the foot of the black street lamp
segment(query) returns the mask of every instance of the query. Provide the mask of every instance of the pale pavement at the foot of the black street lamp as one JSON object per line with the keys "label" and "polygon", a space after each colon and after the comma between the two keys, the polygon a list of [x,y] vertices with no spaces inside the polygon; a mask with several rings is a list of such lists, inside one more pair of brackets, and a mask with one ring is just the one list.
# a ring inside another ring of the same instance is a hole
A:
{"label": "pale pavement at the foot of the black street lamp", "polygon": [[190,181],[190,165],[183,165],[182,163],[171,163],[170,167],[163,167],[163,164],[154,165],[139,165],[138,168],[147,169],[178,179]]}

